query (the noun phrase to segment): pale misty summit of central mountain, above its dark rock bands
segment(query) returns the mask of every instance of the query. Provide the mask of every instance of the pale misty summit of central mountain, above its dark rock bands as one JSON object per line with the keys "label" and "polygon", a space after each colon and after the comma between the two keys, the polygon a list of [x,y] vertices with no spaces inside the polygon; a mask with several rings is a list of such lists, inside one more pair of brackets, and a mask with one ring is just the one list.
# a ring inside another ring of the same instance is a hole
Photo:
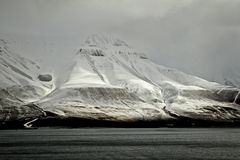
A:
{"label": "pale misty summit of central mountain, above its dark rock bands", "polygon": [[124,41],[113,37],[112,35],[94,34],[88,36],[85,44],[90,46],[124,46],[129,47]]}

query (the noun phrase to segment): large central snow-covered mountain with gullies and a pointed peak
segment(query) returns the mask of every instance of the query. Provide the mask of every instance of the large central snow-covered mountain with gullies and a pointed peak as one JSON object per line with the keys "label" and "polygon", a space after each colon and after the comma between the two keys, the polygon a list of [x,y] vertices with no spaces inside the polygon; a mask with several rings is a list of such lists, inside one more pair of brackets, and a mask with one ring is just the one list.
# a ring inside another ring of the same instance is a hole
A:
{"label": "large central snow-covered mountain with gullies and a pointed peak", "polygon": [[[16,65],[21,64],[13,66]],[[111,36],[90,36],[54,81],[39,81],[40,73],[33,66],[21,68],[32,79],[22,72],[15,73],[13,67],[6,73],[25,77],[27,86],[48,88],[33,103],[21,105],[37,107],[47,116],[117,122],[240,120],[239,89],[157,65]],[[49,76],[43,75],[41,79]]]}

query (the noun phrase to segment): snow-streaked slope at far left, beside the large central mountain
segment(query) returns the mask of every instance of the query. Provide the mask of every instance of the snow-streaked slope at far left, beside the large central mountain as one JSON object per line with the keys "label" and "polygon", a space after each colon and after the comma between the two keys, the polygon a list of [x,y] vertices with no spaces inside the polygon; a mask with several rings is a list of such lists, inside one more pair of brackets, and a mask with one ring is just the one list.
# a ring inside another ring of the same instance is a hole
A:
{"label": "snow-streaked slope at far left, beside the large central mountain", "polygon": [[22,106],[39,100],[53,89],[51,81],[41,81],[39,76],[38,64],[15,54],[7,41],[0,40],[0,121],[42,114],[36,107]]}

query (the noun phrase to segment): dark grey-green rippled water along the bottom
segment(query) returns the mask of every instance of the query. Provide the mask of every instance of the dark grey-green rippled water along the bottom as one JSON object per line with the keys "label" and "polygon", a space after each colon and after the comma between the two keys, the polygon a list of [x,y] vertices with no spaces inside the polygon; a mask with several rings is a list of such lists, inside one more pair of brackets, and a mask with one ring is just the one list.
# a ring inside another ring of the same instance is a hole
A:
{"label": "dark grey-green rippled water along the bottom", "polygon": [[0,130],[0,159],[240,160],[240,129]]}

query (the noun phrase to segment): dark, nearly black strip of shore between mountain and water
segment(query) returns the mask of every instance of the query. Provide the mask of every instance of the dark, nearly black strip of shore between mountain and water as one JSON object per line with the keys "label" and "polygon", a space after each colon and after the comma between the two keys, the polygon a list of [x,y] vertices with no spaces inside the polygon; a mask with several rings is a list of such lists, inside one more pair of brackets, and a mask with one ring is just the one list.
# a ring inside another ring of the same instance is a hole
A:
{"label": "dark, nearly black strip of shore between mountain and water", "polygon": [[209,121],[196,119],[154,120],[154,121],[110,121],[82,118],[42,118],[26,128],[26,121],[9,121],[0,124],[5,129],[49,128],[240,128],[240,121]]}

